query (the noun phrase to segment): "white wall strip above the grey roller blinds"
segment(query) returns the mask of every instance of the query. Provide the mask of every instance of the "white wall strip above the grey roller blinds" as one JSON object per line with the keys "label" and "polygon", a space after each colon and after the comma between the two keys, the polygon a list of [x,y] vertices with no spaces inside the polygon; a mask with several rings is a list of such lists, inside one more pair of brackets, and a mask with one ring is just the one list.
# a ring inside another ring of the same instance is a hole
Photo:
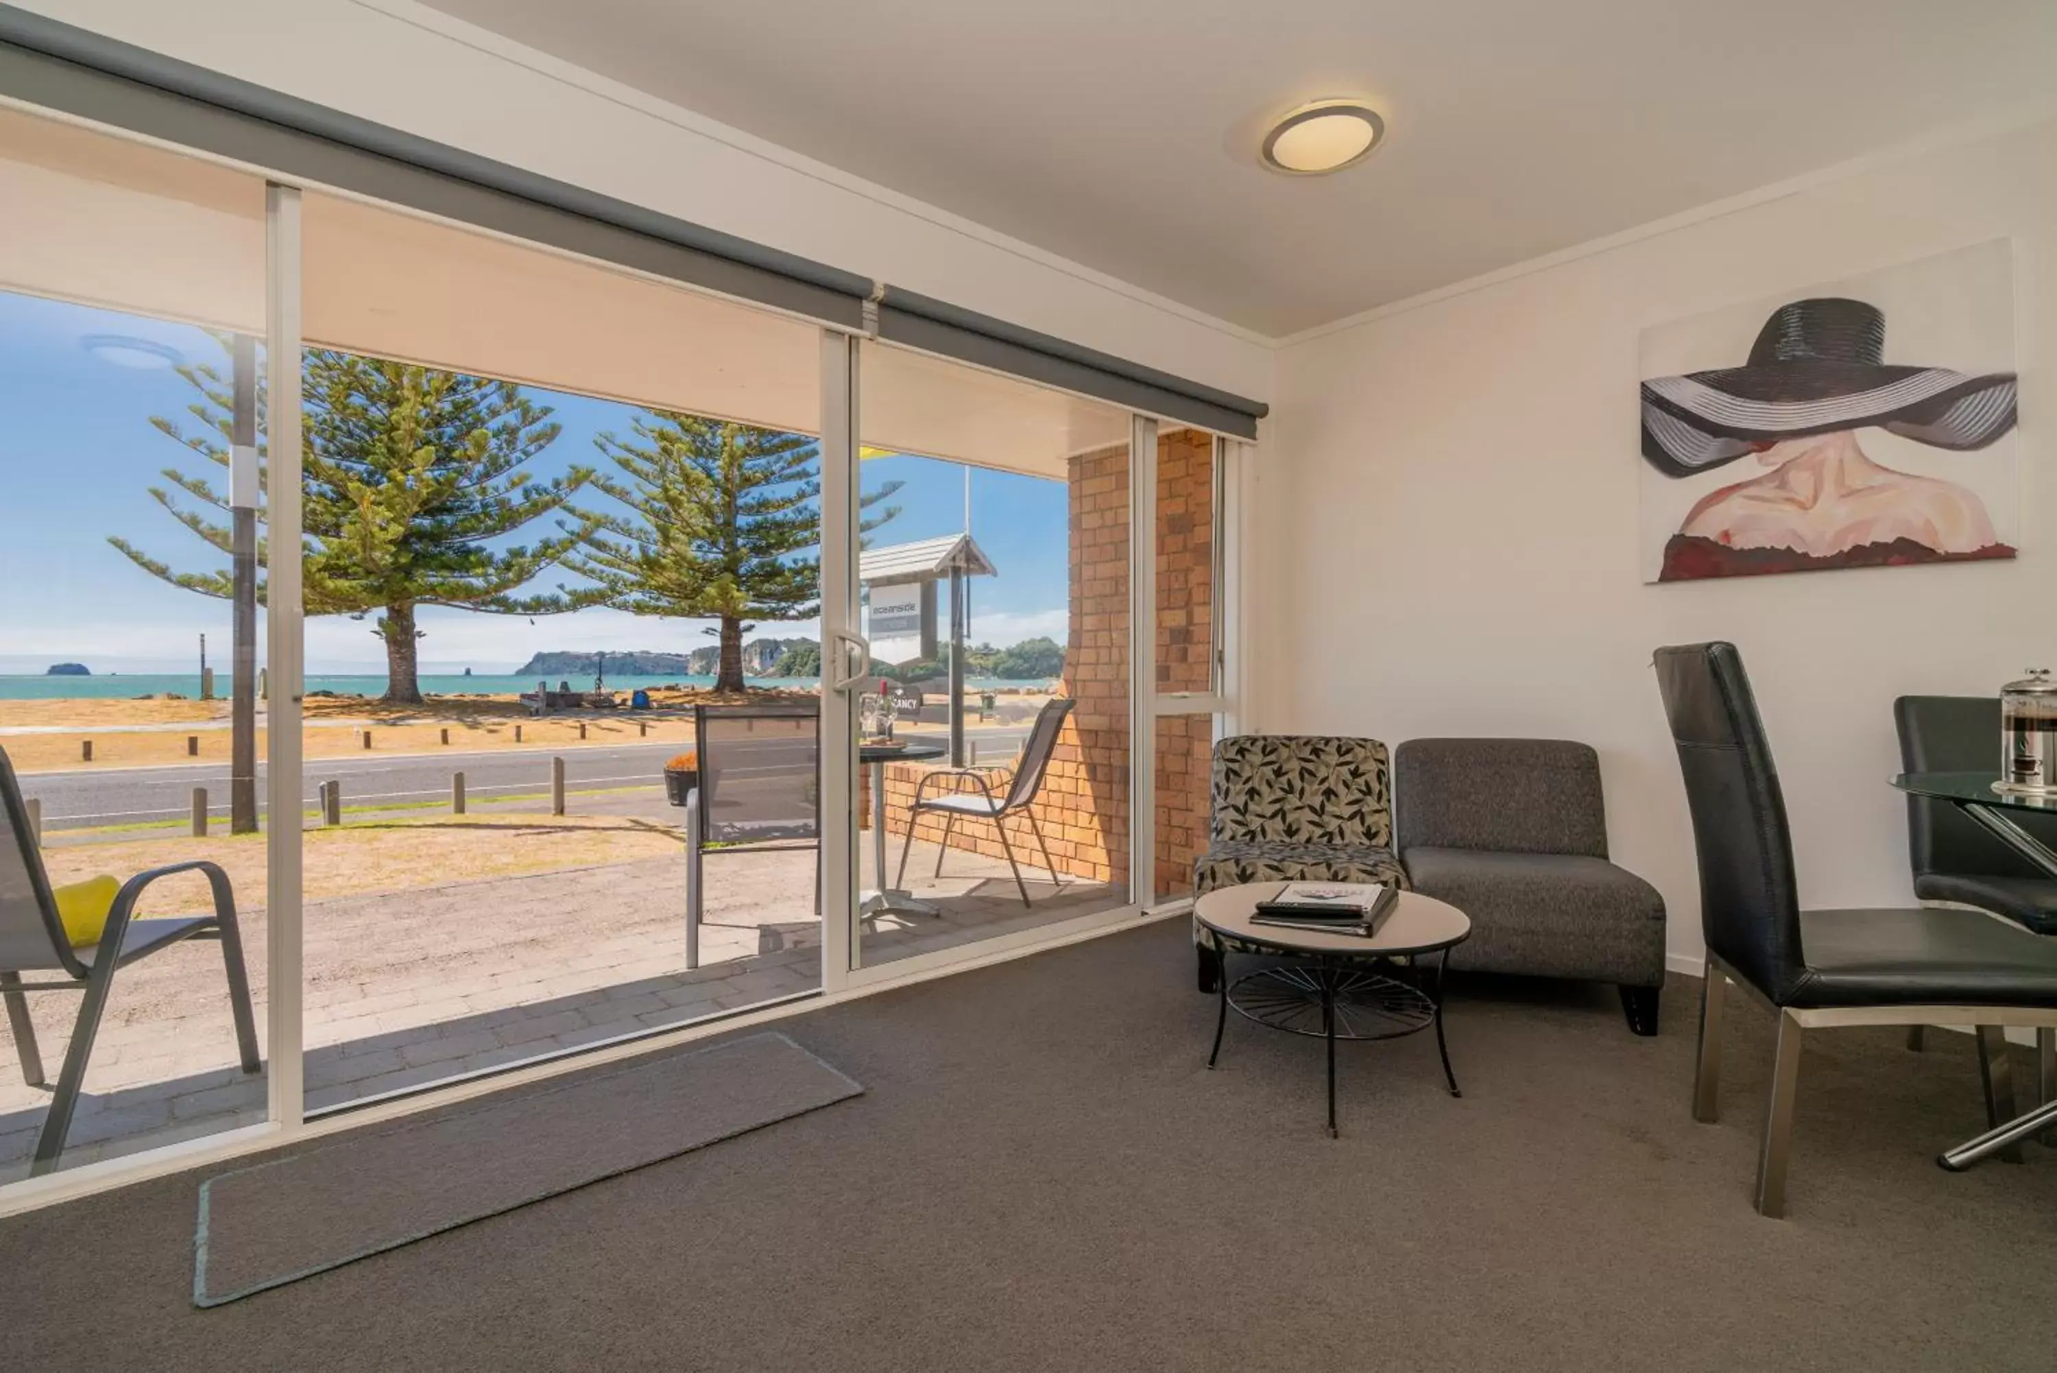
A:
{"label": "white wall strip above the grey roller blinds", "polygon": [[1269,399],[1271,348],[411,0],[19,0],[243,80]]}

